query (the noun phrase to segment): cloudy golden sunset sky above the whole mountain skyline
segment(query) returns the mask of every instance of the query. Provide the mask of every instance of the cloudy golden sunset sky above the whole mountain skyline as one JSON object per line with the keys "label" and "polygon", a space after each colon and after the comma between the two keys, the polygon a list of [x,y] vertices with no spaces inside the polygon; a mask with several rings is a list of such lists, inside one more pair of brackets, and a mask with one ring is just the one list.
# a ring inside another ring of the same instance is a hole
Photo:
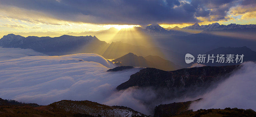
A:
{"label": "cloudy golden sunset sky above the whole mountain skyline", "polygon": [[0,37],[19,32],[81,33],[153,23],[185,27],[196,22],[256,24],[256,1],[0,0]]}

